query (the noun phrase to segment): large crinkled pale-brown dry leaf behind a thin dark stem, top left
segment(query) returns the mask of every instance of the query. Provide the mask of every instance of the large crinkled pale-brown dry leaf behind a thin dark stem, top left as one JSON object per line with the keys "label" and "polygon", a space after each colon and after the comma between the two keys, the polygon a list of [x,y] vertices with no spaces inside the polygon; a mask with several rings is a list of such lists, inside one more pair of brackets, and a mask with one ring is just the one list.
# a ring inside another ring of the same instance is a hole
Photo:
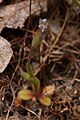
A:
{"label": "large crinkled pale-brown dry leaf behind a thin dark stem, top left", "polygon": [[[0,8],[0,32],[4,27],[22,28],[24,26],[25,20],[29,17],[29,2],[27,0]],[[39,15],[40,11],[47,11],[47,1],[32,0],[31,14]]]}

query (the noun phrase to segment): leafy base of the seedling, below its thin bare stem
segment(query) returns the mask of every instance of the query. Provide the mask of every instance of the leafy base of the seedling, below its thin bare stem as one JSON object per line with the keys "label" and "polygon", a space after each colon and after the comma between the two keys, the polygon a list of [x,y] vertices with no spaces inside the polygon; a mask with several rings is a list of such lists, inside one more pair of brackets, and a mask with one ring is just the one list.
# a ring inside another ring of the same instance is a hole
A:
{"label": "leafy base of the seedling, below its thin bare stem", "polygon": [[27,70],[28,72],[24,72],[22,69],[20,69],[21,76],[31,83],[32,90],[30,89],[20,90],[18,92],[18,98],[22,100],[30,100],[36,98],[41,104],[45,106],[50,106],[51,105],[50,95],[53,94],[55,87],[49,85],[41,89],[40,81],[36,76],[34,76],[34,71],[30,63],[27,63]]}

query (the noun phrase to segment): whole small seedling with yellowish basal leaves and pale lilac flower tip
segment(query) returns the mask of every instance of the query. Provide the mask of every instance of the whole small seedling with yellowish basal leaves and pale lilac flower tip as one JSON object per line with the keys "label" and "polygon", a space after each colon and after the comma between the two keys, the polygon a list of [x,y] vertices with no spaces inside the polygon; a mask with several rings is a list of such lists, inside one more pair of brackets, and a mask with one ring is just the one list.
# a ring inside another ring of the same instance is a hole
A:
{"label": "whole small seedling with yellowish basal leaves and pale lilac flower tip", "polygon": [[[43,24],[45,23],[45,24]],[[45,106],[50,106],[51,105],[51,98],[50,96],[53,94],[55,87],[52,85],[45,86],[43,89],[40,86],[40,80],[34,75],[34,71],[32,69],[32,66],[30,64],[31,57],[33,50],[40,45],[42,38],[45,34],[46,31],[46,20],[42,21],[40,19],[40,25],[39,25],[40,31],[38,31],[37,35],[35,38],[33,38],[32,41],[32,46],[31,46],[31,51],[29,53],[29,58],[27,62],[27,72],[24,72],[20,68],[21,76],[26,79],[27,81],[30,82],[32,89],[27,89],[27,90],[20,90],[18,92],[18,98],[21,100],[30,100],[33,98],[36,98],[41,104]]]}

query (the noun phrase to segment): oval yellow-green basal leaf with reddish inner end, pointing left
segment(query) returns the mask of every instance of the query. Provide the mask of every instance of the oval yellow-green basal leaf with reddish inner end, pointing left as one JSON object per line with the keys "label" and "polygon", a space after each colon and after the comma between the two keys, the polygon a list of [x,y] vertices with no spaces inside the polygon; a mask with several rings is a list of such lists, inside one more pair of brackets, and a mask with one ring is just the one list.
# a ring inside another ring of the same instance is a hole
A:
{"label": "oval yellow-green basal leaf with reddish inner end, pointing left", "polygon": [[20,90],[18,92],[18,97],[22,100],[30,100],[34,97],[34,94],[31,90]]}

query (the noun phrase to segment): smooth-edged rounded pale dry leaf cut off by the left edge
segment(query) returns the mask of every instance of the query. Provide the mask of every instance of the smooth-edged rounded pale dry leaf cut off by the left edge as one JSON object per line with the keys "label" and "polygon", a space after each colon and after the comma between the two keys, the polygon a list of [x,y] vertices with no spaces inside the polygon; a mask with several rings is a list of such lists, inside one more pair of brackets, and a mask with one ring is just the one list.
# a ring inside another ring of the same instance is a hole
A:
{"label": "smooth-edged rounded pale dry leaf cut off by the left edge", "polygon": [[13,51],[10,43],[0,36],[0,73],[2,73],[7,67]]}

